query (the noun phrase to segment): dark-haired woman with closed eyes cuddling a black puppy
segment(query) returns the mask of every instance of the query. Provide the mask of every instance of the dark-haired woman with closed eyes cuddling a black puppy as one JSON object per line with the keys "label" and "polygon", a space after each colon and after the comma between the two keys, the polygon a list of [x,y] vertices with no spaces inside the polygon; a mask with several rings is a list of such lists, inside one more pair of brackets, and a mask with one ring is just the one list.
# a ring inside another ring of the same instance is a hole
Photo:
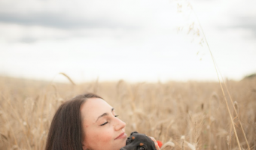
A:
{"label": "dark-haired woman with closed eyes cuddling a black puppy", "polygon": [[126,143],[126,124],[117,116],[98,95],[78,95],[56,111],[45,150],[119,150]]}

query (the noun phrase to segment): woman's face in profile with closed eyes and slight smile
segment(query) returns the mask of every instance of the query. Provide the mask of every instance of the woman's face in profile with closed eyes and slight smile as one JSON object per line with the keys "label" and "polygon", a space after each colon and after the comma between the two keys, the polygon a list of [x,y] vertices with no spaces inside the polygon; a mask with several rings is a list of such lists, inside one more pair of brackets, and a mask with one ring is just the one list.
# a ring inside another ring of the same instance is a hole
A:
{"label": "woman's face in profile with closed eyes and slight smile", "polygon": [[114,108],[104,100],[87,99],[81,106],[81,120],[84,150],[119,150],[125,145],[126,124],[117,118]]}

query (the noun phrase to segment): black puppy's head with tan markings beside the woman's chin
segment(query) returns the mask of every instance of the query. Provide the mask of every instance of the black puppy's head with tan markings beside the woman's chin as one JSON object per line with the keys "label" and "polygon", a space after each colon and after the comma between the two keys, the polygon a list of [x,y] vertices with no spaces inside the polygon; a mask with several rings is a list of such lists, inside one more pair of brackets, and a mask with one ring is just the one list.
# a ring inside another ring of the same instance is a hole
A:
{"label": "black puppy's head with tan markings beside the woman's chin", "polygon": [[151,138],[145,134],[132,132],[126,140],[126,146],[120,150],[157,150]]}

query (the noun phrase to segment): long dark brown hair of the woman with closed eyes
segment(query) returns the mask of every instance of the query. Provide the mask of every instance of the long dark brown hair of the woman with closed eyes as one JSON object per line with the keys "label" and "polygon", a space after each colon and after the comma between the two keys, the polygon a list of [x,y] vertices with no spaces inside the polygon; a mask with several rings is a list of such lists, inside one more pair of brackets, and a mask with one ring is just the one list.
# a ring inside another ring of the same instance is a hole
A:
{"label": "long dark brown hair of the woman with closed eyes", "polygon": [[100,97],[91,93],[78,95],[58,108],[50,124],[45,150],[83,150],[80,108],[88,98]]}

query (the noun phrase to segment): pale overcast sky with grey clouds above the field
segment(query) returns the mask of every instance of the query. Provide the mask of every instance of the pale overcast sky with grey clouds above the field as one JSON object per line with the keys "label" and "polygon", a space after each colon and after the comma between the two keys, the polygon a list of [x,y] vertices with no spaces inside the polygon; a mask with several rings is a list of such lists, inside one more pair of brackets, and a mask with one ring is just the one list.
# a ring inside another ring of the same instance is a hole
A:
{"label": "pale overcast sky with grey clouds above the field", "polygon": [[[75,83],[241,80],[254,0],[1,0],[0,76]],[[205,36],[203,35],[205,34]],[[207,46],[207,44],[209,46]]]}

